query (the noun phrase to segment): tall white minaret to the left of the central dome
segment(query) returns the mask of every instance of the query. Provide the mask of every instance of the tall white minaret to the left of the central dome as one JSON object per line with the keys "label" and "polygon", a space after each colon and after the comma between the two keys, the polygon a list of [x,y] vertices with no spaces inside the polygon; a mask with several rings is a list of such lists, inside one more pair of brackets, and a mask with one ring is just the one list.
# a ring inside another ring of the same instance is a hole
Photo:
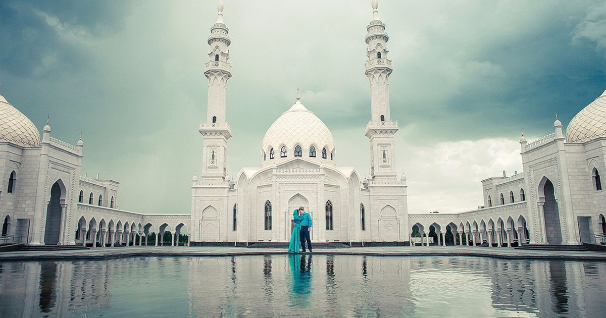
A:
{"label": "tall white minaret to the left of the central dome", "polygon": [[204,66],[204,75],[208,78],[207,118],[206,122],[200,124],[199,131],[204,136],[202,177],[225,179],[227,140],[231,137],[231,127],[225,120],[227,80],[231,78],[231,65],[228,62],[231,40],[229,29],[223,22],[223,0],[219,0],[217,10],[217,22],[210,28],[208,37],[210,61]]}

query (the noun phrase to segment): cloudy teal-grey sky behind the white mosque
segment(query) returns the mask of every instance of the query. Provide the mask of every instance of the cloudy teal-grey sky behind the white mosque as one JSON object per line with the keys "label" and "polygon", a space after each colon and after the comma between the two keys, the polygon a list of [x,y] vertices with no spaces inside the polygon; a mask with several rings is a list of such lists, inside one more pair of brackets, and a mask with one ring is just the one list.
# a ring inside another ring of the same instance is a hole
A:
{"label": "cloudy teal-grey sky behind the white mosque", "polygon": [[[259,165],[295,101],[368,173],[370,0],[225,1],[233,78],[228,169]],[[482,179],[521,171],[519,133],[551,133],[606,88],[606,1],[381,0],[396,166],[410,212],[482,205]],[[216,1],[0,1],[2,94],[53,136],[84,133],[82,173],[121,182],[119,208],[189,213],[201,171],[206,39]]]}

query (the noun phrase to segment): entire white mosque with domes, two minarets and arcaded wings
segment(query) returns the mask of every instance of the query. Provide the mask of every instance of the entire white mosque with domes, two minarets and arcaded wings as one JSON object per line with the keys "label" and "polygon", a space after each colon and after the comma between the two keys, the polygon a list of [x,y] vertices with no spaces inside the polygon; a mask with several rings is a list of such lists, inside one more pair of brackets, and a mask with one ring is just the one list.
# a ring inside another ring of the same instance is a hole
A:
{"label": "entire white mosque with domes, two minarets and arcaded wings", "polygon": [[[520,140],[524,172],[482,181],[484,206],[456,214],[408,214],[407,185],[395,171],[385,24],[378,0],[367,25],[365,75],[370,81],[370,177],[339,167],[328,127],[299,96],[265,133],[259,167],[227,175],[231,128],[225,116],[231,78],[231,40],[223,1],[208,38],[207,119],[202,173],[192,178],[191,213],[143,214],[120,210],[119,182],[80,175],[84,143],[51,136],[0,95],[0,244],[117,245],[190,243],[244,245],[288,242],[291,212],[305,207],[313,242],[362,245],[579,245],[606,234],[606,91],[583,108],[564,133]],[[187,229],[187,242],[179,234]],[[151,237],[153,232],[157,236]],[[425,239],[426,237],[427,239]]]}

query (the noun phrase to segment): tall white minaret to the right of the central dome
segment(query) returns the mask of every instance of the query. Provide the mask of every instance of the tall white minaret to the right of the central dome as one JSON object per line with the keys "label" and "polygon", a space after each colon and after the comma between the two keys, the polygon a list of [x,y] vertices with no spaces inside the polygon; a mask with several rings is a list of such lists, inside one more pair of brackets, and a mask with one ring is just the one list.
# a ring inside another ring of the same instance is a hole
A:
{"label": "tall white minaret to the right of the central dome", "polygon": [[398,131],[398,122],[391,121],[389,106],[389,76],[391,61],[387,59],[387,41],[385,24],[379,19],[378,0],[372,1],[373,19],[366,27],[365,74],[370,80],[370,122],[366,125],[366,136],[370,139],[370,175],[374,181],[397,182],[393,167],[395,158],[394,134]]}

